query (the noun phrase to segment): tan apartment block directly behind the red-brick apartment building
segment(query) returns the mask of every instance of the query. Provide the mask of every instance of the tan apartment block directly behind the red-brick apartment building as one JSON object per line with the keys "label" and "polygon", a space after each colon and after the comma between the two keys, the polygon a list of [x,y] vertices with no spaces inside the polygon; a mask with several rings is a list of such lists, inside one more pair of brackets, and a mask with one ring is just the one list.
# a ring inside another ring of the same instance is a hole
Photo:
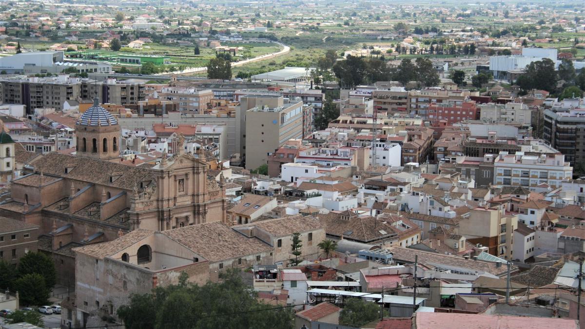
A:
{"label": "tan apartment block directly behind the red-brick apartment building", "polygon": [[[446,90],[427,88],[408,92],[408,112],[429,119],[429,107],[433,104],[443,106],[462,107],[467,98],[472,95],[468,90]],[[448,104],[448,105],[447,105]],[[455,116],[453,116],[455,117]],[[449,114],[450,118],[450,114]]]}

